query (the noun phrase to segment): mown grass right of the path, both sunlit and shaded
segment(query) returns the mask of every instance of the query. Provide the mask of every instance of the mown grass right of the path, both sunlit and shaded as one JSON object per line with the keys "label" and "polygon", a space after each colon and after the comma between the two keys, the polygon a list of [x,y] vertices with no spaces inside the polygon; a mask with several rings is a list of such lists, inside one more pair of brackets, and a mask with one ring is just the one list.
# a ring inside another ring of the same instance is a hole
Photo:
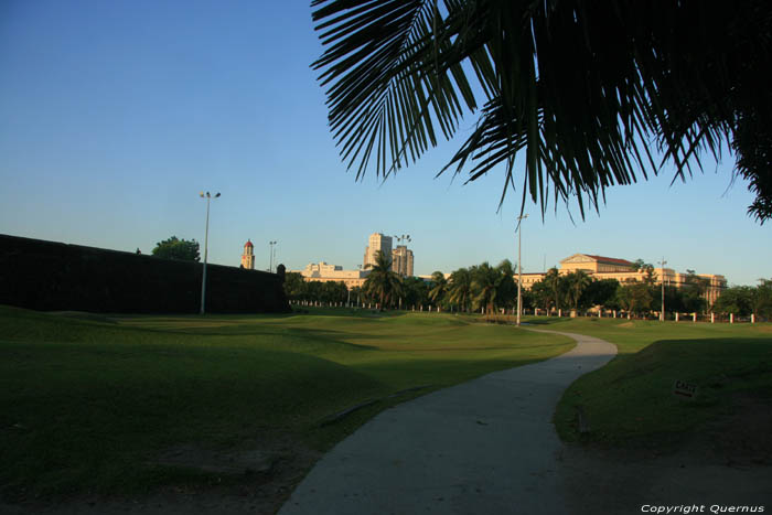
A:
{"label": "mown grass right of the path, both sunlit and shaded", "polygon": [[[566,441],[672,450],[731,412],[738,395],[772,408],[772,324],[581,319],[548,326],[598,336],[619,350],[564,394],[555,422]],[[676,380],[697,385],[697,398],[673,395]],[[579,432],[578,407],[587,433]]]}

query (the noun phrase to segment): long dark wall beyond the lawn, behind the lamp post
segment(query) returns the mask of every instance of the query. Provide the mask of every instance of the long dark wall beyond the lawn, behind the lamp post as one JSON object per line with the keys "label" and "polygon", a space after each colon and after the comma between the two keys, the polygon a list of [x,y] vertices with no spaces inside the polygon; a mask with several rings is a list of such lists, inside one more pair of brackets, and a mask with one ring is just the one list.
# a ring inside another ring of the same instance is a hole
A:
{"label": "long dark wall beyond the lawn, behind the lamp post", "polygon": [[[0,304],[40,311],[197,313],[203,264],[0,235]],[[288,312],[283,277],[207,265],[206,312]]]}

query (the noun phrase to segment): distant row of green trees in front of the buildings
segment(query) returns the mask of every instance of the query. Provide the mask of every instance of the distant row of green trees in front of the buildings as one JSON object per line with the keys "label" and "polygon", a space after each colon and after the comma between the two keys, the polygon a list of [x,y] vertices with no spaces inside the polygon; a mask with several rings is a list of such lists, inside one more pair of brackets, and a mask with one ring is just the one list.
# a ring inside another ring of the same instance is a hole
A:
{"label": "distant row of green trees in front of the buildings", "polygon": [[[527,310],[577,310],[590,308],[618,310],[644,315],[662,309],[662,285],[657,283],[654,266],[639,259],[635,269],[644,271],[643,281],[594,279],[581,270],[559,273],[550,268],[545,277],[522,290],[523,308]],[[392,271],[389,258],[376,254],[362,288],[349,292],[343,282],[304,281],[300,273],[288,273],[285,289],[290,300],[319,302],[366,303],[378,309],[420,309],[439,307],[442,311],[495,313],[511,311],[517,304],[515,267],[508,259],[496,266],[487,261],[459,268],[448,278],[441,271],[430,281],[400,277]],[[705,299],[709,281],[687,270],[680,288],[665,286],[665,310],[680,313],[735,313],[738,315],[772,316],[772,280],[758,287],[733,287],[725,290],[710,308]]]}

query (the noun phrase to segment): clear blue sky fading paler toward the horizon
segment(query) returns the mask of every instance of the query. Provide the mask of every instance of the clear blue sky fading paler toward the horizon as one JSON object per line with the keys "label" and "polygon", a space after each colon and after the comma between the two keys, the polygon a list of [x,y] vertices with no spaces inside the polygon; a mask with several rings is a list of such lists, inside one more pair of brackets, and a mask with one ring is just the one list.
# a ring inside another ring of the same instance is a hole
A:
{"label": "clear blue sky fading paler toward the horizon", "polygon": [[[238,266],[269,240],[289,269],[355,268],[367,236],[410,234],[416,273],[517,254],[519,194],[501,211],[503,174],[464,185],[436,172],[459,138],[385,183],[355,182],[326,127],[309,65],[322,47],[305,1],[0,3],[0,233],[149,253],[176,235]],[[746,215],[733,159],[671,186],[672,172],[612,187],[582,221],[528,205],[524,271],[575,253],[657,261],[730,283],[772,277],[772,224]]]}

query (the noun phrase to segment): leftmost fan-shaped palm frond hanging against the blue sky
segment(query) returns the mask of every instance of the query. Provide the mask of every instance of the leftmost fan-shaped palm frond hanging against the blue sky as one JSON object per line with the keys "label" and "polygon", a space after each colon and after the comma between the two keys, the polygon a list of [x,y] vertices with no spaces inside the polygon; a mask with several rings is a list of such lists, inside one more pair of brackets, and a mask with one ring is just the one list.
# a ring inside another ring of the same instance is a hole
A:
{"label": "leftmost fan-shaped palm frond hanging against the blue sky", "polygon": [[313,63],[328,87],[330,127],[341,155],[361,179],[373,154],[386,176],[450,138],[475,99],[460,63],[438,72],[450,39],[437,32],[433,0],[324,1],[313,12],[322,43]]}

